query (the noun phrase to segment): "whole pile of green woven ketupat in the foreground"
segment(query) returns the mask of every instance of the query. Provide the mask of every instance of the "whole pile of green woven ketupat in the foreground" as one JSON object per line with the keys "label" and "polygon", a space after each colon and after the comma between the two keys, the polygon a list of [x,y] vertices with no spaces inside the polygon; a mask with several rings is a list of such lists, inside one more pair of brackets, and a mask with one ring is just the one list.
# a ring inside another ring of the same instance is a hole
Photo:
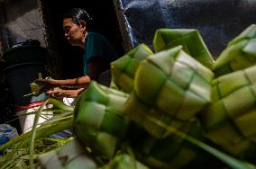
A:
{"label": "whole pile of green woven ketupat in the foreground", "polygon": [[112,63],[114,88],[92,82],[80,95],[75,137],[107,169],[215,168],[190,137],[255,163],[254,37],[251,25],[215,62],[197,30],[156,31],[155,53],[142,44]]}

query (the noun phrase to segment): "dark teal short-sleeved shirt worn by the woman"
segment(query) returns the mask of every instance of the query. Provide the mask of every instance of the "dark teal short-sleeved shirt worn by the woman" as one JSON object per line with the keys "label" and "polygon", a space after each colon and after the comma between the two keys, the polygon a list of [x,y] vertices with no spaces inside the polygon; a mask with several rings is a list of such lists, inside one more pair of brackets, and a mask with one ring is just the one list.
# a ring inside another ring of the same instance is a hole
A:
{"label": "dark teal short-sleeved shirt worn by the woman", "polygon": [[103,35],[89,32],[85,43],[84,75],[90,75],[87,64],[91,58],[103,58],[106,67],[110,69],[110,63],[117,58],[117,53],[112,44]]}

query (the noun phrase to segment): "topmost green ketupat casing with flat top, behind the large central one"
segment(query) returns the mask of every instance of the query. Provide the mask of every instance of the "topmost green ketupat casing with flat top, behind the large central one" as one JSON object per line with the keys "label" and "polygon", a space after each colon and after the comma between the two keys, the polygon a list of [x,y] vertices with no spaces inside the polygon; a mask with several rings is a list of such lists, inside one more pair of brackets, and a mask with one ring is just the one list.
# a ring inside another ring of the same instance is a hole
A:
{"label": "topmost green ketupat casing with flat top, behind the large central one", "polygon": [[183,46],[188,55],[197,59],[201,64],[214,69],[215,60],[206,47],[199,31],[193,29],[159,29],[156,31],[153,47],[155,52]]}

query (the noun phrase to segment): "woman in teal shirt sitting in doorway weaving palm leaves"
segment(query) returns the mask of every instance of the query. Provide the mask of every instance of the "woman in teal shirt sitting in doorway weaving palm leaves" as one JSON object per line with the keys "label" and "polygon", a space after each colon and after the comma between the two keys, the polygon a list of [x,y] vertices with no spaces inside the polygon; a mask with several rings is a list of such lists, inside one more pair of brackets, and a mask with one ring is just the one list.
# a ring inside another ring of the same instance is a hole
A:
{"label": "woman in teal shirt sitting in doorway weaving palm leaves", "polygon": [[103,35],[88,30],[91,21],[88,13],[81,8],[74,8],[64,14],[63,29],[66,40],[72,46],[85,49],[84,76],[65,80],[37,79],[35,82],[44,86],[44,89],[49,88],[47,86],[54,86],[46,91],[50,96],[78,97],[78,94],[87,88],[90,81],[98,81],[99,76],[110,69],[110,62],[117,58],[114,47]]}

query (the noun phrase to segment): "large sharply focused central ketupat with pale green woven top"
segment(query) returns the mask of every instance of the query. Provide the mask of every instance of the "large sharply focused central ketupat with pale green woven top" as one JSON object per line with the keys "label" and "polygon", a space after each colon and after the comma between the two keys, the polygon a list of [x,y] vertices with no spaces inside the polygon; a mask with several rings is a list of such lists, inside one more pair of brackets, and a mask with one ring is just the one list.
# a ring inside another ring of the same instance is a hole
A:
{"label": "large sharply focused central ketupat with pale green woven top", "polygon": [[208,68],[177,47],[142,61],[134,91],[143,102],[180,120],[189,120],[211,101],[213,76]]}

